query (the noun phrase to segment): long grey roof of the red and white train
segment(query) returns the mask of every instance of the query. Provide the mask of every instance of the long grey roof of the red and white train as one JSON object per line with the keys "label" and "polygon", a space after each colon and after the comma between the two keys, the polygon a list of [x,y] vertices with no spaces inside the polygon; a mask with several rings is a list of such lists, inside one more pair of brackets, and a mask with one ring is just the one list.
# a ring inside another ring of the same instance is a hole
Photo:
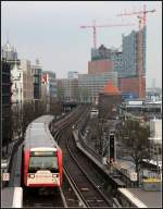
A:
{"label": "long grey roof of the red and white train", "polygon": [[24,143],[25,149],[59,147],[49,131],[49,123],[52,119],[52,115],[43,115],[27,126]]}

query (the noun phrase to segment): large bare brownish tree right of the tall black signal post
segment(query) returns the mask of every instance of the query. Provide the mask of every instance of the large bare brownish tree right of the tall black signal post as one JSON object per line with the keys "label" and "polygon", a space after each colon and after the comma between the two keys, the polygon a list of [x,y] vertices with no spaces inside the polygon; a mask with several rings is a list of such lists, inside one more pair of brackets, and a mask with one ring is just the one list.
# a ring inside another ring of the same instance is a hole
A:
{"label": "large bare brownish tree right of the tall black signal post", "polygon": [[150,144],[148,140],[150,128],[148,125],[140,124],[139,121],[127,120],[122,124],[118,132],[122,143],[126,146],[128,155],[135,162],[139,184],[139,172],[142,159],[150,158]]}

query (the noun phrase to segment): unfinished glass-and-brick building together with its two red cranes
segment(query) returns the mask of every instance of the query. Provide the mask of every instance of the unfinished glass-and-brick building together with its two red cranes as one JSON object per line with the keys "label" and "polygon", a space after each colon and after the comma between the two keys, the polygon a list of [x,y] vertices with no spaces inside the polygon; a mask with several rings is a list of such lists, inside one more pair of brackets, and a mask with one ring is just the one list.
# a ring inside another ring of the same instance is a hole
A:
{"label": "unfinished glass-and-brick building together with its two red cranes", "polygon": [[122,46],[118,48],[106,48],[101,45],[97,47],[97,28],[106,27],[130,27],[134,24],[106,24],[83,25],[80,28],[90,28],[93,32],[93,47],[91,49],[91,61],[88,62],[88,74],[101,74],[117,72],[118,84],[123,98],[146,98],[146,39],[147,39],[147,14],[155,10],[125,12],[117,16],[136,15],[138,19],[138,30],[131,30],[129,35],[123,36]]}

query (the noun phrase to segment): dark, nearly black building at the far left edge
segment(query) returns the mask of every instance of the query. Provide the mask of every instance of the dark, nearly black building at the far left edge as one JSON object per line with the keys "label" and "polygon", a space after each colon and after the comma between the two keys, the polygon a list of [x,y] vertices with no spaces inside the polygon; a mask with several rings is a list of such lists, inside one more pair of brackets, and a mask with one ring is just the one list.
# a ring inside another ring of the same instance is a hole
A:
{"label": "dark, nearly black building at the far left edge", "polygon": [[1,89],[0,95],[2,98],[2,147],[5,146],[12,139],[12,123],[11,123],[11,65],[7,62],[7,59],[1,59]]}

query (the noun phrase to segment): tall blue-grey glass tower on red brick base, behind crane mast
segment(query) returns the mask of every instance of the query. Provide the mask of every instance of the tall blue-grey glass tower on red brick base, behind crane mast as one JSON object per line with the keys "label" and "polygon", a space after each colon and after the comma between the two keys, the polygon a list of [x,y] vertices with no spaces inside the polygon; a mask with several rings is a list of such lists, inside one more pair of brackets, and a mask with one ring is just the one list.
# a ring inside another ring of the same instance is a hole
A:
{"label": "tall blue-grey glass tower on red brick base, behind crane mast", "polygon": [[123,71],[118,86],[123,95],[133,98],[146,97],[146,27],[141,32],[141,48],[139,32],[133,30],[129,35],[123,36]]}

